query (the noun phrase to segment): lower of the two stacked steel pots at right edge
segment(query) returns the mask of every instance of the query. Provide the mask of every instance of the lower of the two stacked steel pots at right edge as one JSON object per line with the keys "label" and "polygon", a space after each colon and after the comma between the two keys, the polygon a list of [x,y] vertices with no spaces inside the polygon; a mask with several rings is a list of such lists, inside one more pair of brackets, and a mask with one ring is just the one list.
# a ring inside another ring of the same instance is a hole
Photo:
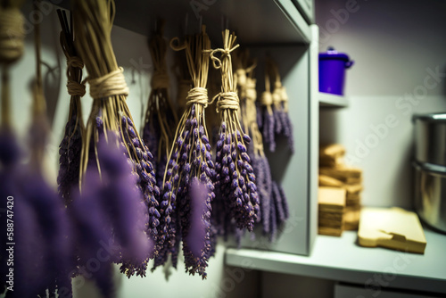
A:
{"label": "lower of the two stacked steel pots at right edge", "polygon": [[446,167],[413,161],[415,209],[429,226],[446,233]]}

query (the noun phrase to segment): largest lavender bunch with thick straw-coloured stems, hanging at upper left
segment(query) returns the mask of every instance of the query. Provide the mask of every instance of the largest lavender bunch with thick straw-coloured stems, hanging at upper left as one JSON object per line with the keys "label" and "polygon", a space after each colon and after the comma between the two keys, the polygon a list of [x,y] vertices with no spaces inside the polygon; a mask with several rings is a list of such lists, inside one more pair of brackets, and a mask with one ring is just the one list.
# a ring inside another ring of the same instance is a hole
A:
{"label": "largest lavender bunch with thick straw-coloured stems, hanging at upper left", "polygon": [[[160,189],[156,185],[153,171],[153,155],[139,137],[128,110],[128,87],[111,46],[111,28],[116,12],[114,2],[76,0],[73,12],[77,34],[75,46],[88,70],[87,82],[93,97],[81,151],[81,179],[88,163],[91,164],[89,156],[92,153],[95,155],[97,170],[101,170],[96,147],[99,134],[96,121],[99,118],[104,134],[107,135],[109,131],[116,132],[126,148],[128,158],[133,162],[133,171],[138,176],[136,185],[143,194],[149,212],[146,234],[154,239],[159,234]],[[159,246],[155,247],[154,254],[160,249]]]}

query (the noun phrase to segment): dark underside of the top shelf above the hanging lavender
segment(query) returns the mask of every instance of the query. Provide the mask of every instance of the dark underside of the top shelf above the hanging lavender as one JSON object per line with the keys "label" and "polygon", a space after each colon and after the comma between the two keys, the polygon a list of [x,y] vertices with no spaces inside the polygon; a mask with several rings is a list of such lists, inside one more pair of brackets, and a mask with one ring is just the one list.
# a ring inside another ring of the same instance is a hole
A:
{"label": "dark underside of the top shelf above the hanging lavender", "polygon": [[[60,4],[70,8],[70,2]],[[201,24],[216,45],[222,29],[235,30],[242,45],[308,44],[310,26],[291,0],[115,0],[114,24],[150,36],[158,20],[166,37],[197,33]]]}

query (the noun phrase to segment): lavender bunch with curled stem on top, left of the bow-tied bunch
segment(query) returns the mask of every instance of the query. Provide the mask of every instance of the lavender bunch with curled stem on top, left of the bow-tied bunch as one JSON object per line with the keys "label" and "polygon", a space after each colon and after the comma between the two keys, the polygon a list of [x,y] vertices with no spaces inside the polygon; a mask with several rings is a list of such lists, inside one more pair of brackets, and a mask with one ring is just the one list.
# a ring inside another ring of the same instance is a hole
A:
{"label": "lavender bunch with curled stem on top, left of the bow-tied bunch", "polygon": [[193,275],[198,273],[205,278],[211,250],[211,201],[215,196],[212,184],[214,165],[204,117],[204,109],[208,104],[205,87],[209,54],[203,51],[210,49],[211,42],[204,27],[201,34],[186,37],[182,46],[174,46],[177,40],[178,38],[172,39],[170,45],[175,50],[186,50],[187,65],[194,87],[188,92],[186,111],[179,120],[175,143],[169,153],[169,162],[164,173],[161,201],[163,217],[161,236],[158,238],[163,249],[155,258],[153,269],[164,264],[169,255],[176,263],[178,233],[181,233],[186,272]]}

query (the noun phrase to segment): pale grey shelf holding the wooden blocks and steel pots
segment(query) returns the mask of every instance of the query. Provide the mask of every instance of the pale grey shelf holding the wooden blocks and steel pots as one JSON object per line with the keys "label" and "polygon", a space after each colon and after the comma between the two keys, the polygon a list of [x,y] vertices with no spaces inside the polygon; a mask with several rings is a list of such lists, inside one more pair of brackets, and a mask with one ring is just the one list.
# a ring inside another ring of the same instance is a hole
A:
{"label": "pale grey shelf holding the wooden blocks and steel pots", "polygon": [[425,254],[366,248],[357,233],[317,236],[310,256],[228,248],[226,264],[271,272],[320,277],[359,285],[377,278],[381,286],[446,294],[446,236],[425,229]]}

